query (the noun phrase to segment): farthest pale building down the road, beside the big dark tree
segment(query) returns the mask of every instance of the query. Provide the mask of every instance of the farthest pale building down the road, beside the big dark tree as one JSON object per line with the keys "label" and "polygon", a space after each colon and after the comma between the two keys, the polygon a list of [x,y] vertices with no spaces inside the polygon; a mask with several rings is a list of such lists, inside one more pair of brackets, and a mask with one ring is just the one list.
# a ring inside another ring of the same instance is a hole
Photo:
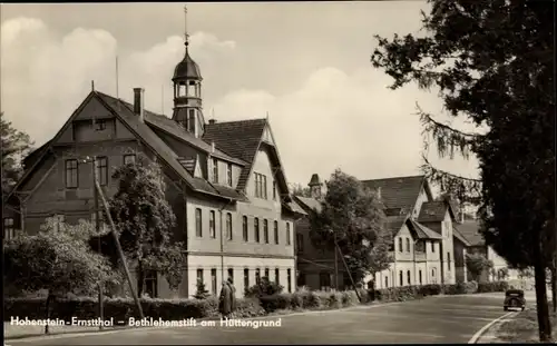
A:
{"label": "farthest pale building down the road, beside the big dark tree", "polygon": [[[510,269],[505,258],[499,256],[491,246],[486,245],[483,236],[479,233],[479,220],[463,220],[460,225],[457,226],[457,229],[468,240],[468,254],[481,254],[486,256],[487,259],[494,263],[494,269],[482,273],[479,280],[489,281],[502,279],[502,270],[508,270],[507,279],[518,279],[518,270]],[[469,273],[468,276],[470,276]]]}

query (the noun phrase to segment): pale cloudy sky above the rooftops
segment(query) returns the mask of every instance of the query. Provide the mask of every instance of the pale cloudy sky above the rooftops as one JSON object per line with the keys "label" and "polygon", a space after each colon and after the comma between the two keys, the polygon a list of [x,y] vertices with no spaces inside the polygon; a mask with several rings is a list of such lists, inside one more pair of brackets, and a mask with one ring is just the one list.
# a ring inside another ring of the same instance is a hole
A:
{"label": "pale cloudy sky above the rooftops", "polygon": [[[437,92],[392,82],[374,69],[373,36],[421,31],[424,1],[187,4],[190,56],[203,75],[205,119],[265,118],[289,182],[326,179],[340,168],[359,179],[420,174],[417,102],[437,119]],[[184,3],[1,4],[0,108],[40,146],[95,89],[172,116],[172,75],[184,57]],[[118,59],[116,59],[118,57]],[[118,60],[118,73],[116,73]],[[118,76],[118,78],[116,77]],[[118,79],[118,90],[116,80]],[[477,161],[428,159],[477,177]]]}

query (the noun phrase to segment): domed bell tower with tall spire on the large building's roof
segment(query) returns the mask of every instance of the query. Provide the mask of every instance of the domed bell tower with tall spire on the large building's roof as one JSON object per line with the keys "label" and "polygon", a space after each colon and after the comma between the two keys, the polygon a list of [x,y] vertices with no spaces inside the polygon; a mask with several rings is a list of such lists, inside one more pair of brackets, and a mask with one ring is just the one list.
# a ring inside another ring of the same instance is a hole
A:
{"label": "domed bell tower with tall spire on the large building's roof", "polygon": [[202,108],[202,73],[199,66],[189,57],[189,34],[187,33],[187,7],[184,7],[186,51],[174,69],[174,111],[173,120],[201,138],[205,128]]}

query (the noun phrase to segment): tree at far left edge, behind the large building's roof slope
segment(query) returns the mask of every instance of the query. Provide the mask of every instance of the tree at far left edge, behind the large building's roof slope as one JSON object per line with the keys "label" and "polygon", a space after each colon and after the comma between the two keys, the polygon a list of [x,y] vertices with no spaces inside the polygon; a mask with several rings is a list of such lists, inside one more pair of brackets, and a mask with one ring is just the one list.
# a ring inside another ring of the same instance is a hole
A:
{"label": "tree at far left edge, behind the large building's roof slope", "polygon": [[2,194],[8,194],[22,174],[21,159],[32,149],[29,135],[12,127],[0,112],[0,134],[2,141]]}

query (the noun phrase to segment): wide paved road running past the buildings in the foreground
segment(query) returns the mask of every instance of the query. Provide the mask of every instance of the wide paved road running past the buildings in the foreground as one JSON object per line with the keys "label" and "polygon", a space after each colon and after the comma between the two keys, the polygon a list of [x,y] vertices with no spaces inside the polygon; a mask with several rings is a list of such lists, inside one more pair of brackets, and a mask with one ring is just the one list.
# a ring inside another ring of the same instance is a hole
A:
{"label": "wide paved road running past the buildings in the foreground", "polygon": [[[532,300],[530,300],[532,301]],[[312,312],[281,318],[281,327],[182,327],[63,335],[10,340],[10,345],[226,345],[226,344],[466,344],[505,315],[502,294],[440,296],[421,300]],[[218,324],[218,323],[217,323]]]}

